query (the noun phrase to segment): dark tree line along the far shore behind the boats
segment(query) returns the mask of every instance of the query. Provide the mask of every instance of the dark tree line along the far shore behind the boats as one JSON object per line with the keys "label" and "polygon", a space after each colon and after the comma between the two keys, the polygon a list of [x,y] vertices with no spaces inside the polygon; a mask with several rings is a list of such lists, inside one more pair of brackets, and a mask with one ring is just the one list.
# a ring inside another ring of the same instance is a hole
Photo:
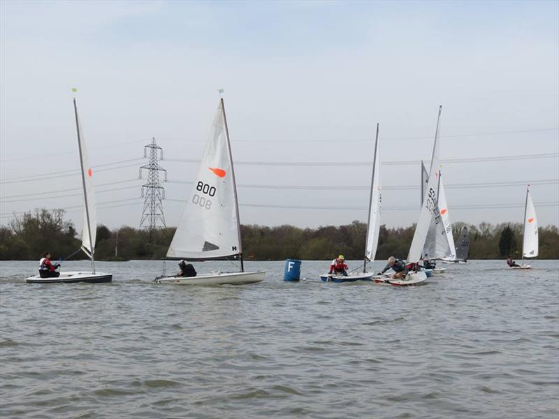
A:
{"label": "dark tree line along the far shore behind the boats", "polygon": [[[64,210],[37,209],[14,216],[0,226],[0,260],[34,260],[50,251],[53,258],[64,258],[77,249],[81,241],[73,224],[64,219]],[[522,230],[520,223],[481,223],[478,226],[453,223],[455,240],[466,226],[470,231],[470,259],[498,259],[509,254],[521,258]],[[386,228],[381,226],[377,260],[395,256],[406,258],[415,226]],[[328,260],[338,254],[346,259],[363,259],[367,225],[354,221],[344,226],[298,228],[294,226],[241,226],[245,259]],[[96,260],[129,260],[164,258],[175,228],[159,228],[154,232],[132,227],[110,230],[98,226]],[[559,259],[557,226],[539,227],[539,258]],[[86,258],[78,252],[72,259]]]}

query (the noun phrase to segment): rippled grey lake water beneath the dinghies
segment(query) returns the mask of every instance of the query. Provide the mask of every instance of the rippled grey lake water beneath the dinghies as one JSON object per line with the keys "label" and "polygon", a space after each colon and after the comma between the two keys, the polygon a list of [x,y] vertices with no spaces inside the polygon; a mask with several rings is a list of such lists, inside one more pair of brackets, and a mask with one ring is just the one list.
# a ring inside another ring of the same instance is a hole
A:
{"label": "rippled grey lake water beneath the dinghies", "polygon": [[24,284],[37,261],[1,262],[0,416],[557,419],[559,262],[530,263],[398,288],[322,283],[327,261],[299,283],[247,262],[263,283],[213,287],[152,284],[155,261],[96,263],[112,284]]}

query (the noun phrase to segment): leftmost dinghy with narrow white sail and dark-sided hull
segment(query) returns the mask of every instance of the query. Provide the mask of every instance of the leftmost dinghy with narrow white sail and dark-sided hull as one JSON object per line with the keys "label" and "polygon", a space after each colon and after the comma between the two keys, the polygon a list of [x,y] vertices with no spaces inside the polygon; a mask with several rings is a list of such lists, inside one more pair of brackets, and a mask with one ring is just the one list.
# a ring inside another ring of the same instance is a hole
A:
{"label": "leftmost dinghy with narrow white sail and dark-sided hull", "polygon": [[[77,91],[72,89],[72,91]],[[78,149],[80,151],[80,167],[82,171],[82,187],[83,187],[83,229],[82,229],[82,246],[81,250],[89,257],[92,265],[92,272],[60,272],[59,277],[41,278],[40,275],[27,277],[26,282],[36,284],[50,284],[56,282],[110,282],[112,274],[103,272],[95,272],[95,238],[97,233],[97,216],[95,212],[95,195],[93,190],[93,170],[89,165],[89,155],[85,139],[80,126],[80,118],[78,117],[78,105],[73,98],[75,127],[78,131]],[[78,250],[79,251],[79,250]]]}

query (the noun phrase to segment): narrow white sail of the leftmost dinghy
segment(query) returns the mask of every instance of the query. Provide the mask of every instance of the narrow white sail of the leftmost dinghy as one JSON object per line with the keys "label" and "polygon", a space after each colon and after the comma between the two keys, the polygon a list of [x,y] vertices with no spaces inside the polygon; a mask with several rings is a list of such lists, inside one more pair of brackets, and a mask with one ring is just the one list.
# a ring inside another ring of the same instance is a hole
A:
{"label": "narrow white sail of the leftmost dinghy", "polygon": [[78,149],[80,151],[80,166],[82,169],[83,186],[83,228],[82,249],[93,259],[95,252],[95,238],[97,234],[97,214],[95,211],[95,194],[93,191],[93,169],[89,164],[89,154],[82,133],[80,118],[78,117],[78,105],[74,98],[75,126],[78,130]]}

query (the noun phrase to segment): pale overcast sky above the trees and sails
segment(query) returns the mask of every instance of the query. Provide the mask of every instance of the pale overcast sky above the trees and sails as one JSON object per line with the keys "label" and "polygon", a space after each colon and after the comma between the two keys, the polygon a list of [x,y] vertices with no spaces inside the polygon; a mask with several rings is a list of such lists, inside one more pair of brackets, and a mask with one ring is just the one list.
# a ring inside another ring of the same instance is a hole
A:
{"label": "pale overcast sky above the trees and sails", "polygon": [[139,225],[152,137],[177,225],[218,89],[242,223],[365,221],[377,122],[382,221],[416,222],[442,105],[451,221],[521,222],[530,181],[559,224],[558,1],[3,0],[0,36],[0,223],[62,207],[80,228],[77,87],[111,228]]}

